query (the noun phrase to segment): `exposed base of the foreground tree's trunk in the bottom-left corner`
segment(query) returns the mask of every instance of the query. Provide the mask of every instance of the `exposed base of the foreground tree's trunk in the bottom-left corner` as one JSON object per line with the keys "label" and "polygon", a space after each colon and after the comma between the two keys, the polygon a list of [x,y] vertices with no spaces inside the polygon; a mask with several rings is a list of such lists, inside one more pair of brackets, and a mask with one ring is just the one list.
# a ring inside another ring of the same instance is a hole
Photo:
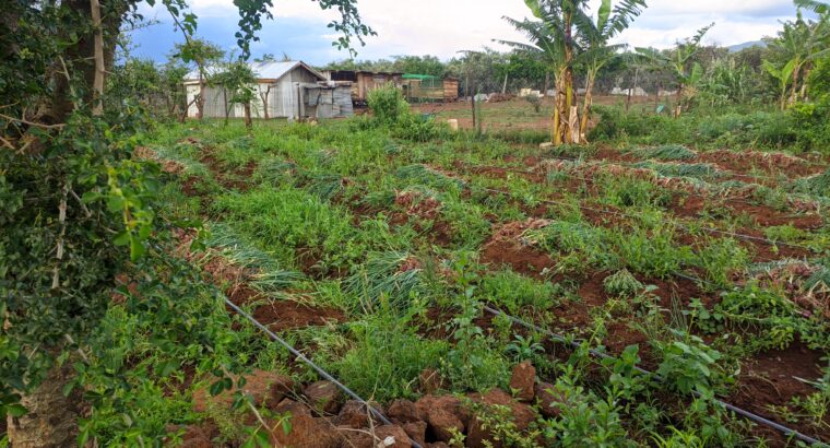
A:
{"label": "exposed base of the foreground tree's trunk in the bottom-left corner", "polygon": [[22,417],[9,416],[9,441],[14,448],[59,448],[75,445],[78,435],[79,393],[63,396],[63,387],[74,372],[72,363],[55,366],[35,390],[22,394],[21,404],[29,412]]}

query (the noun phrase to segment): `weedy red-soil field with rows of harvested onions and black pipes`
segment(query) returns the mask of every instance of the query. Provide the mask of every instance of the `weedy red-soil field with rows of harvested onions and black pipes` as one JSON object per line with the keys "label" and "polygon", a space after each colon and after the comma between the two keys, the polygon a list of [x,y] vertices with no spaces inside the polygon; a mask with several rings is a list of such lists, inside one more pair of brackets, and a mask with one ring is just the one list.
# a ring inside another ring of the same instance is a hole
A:
{"label": "weedy red-soil field with rows of harvested onions and black pipes", "polygon": [[392,421],[214,302],[259,420],[193,365],[163,406],[186,444],[795,446],[715,398],[830,439],[826,162],[370,121],[188,122],[140,151],[161,213],[205,224],[177,257]]}

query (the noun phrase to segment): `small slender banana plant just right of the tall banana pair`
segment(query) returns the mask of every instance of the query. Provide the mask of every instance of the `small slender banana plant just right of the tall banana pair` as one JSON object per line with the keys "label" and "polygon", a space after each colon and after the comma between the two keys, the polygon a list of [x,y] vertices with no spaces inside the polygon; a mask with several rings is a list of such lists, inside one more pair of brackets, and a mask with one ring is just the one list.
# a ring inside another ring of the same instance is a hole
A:
{"label": "small slender banana plant just right of the tall banana pair", "polygon": [[709,30],[711,30],[712,26],[714,26],[714,23],[700,28],[693,37],[687,38],[683,43],[678,43],[677,48],[675,48],[669,55],[663,54],[654,48],[636,48],[637,54],[641,58],[655,67],[666,68],[672,71],[672,74],[677,82],[676,117],[679,117],[683,113],[683,95],[685,90],[695,86],[703,78],[703,68],[700,63],[693,61],[693,58],[700,50],[700,42],[703,40],[703,36],[709,33]]}

